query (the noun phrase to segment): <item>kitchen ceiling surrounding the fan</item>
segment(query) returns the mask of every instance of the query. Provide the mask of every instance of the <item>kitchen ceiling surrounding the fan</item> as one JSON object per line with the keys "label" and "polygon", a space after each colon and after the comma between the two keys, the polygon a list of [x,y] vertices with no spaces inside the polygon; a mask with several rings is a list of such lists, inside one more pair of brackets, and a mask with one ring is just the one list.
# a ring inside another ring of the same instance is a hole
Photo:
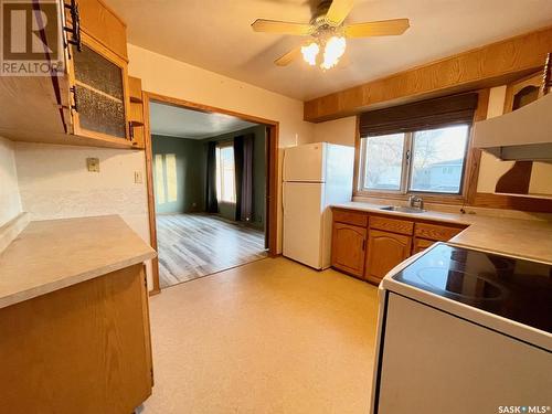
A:
{"label": "kitchen ceiling surrounding the fan", "polygon": [[316,0],[108,0],[129,42],[298,99],[310,99],[500,39],[552,25],[551,0],[357,0],[347,22],[408,18],[401,36],[354,39],[328,72],[273,61],[300,38],[255,33],[257,18],[310,20]]}

